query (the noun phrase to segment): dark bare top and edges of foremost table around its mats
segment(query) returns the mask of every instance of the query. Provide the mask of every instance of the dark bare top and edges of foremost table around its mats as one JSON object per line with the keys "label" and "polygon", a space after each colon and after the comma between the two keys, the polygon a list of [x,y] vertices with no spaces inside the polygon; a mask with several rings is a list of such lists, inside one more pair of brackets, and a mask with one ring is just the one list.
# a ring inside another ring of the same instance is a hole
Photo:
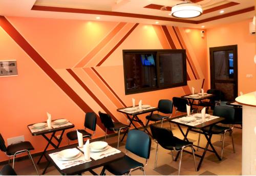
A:
{"label": "dark bare top and edges of foremost table around its mats", "polygon": [[53,163],[53,165],[56,167],[56,169],[62,175],[80,174],[82,172],[89,171],[89,170],[92,170],[92,169],[104,166],[106,164],[109,164],[109,163],[111,163],[113,161],[119,160],[119,159],[123,158],[124,155],[125,155],[124,153],[121,152],[121,153],[114,154],[114,155],[111,155],[111,156],[108,156],[108,157],[104,157],[104,158],[98,159],[98,160],[94,160],[94,159],[91,158],[92,161],[90,161],[90,162],[86,162],[86,163],[83,163],[83,164],[79,164],[79,165],[76,165],[76,166],[72,166],[72,167],[60,170],[59,167],[53,162],[53,160],[49,156],[49,154],[52,154],[52,153],[55,153],[55,152],[59,152],[59,151],[61,151],[63,149],[74,148],[74,147],[77,147],[77,144],[68,145],[68,146],[65,146],[65,147],[60,147],[60,148],[57,148],[57,149],[49,150],[46,153],[47,159],[49,161],[51,161],[51,163]]}

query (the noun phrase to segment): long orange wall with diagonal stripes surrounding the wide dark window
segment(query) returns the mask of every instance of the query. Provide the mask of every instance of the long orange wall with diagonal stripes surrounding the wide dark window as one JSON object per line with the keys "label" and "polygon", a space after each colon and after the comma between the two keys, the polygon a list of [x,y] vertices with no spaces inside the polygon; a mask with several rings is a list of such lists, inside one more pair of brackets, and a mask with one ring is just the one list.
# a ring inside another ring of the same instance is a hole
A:
{"label": "long orange wall with diagonal stripes surrounding the wide dark window", "polygon": [[[183,28],[166,27],[176,48],[186,48],[188,86],[164,89],[153,92],[125,95],[122,49],[163,49],[170,48],[161,26],[103,22],[64,20],[47,18],[6,17],[11,25],[21,34],[26,46],[31,45],[57,73],[59,78],[72,88],[84,104],[92,111],[111,112],[115,120],[127,123],[126,117],[116,111],[117,108],[131,106],[131,98],[138,103],[157,106],[161,98],[172,99],[189,93],[190,87],[201,89],[203,79],[208,82],[206,58],[206,38],[201,38],[200,30],[191,29],[186,33]],[[1,22],[4,25],[6,22]],[[5,31],[7,30],[7,31]],[[8,29],[0,28],[0,60],[17,60],[17,77],[0,78],[1,92],[1,130],[5,139],[24,135],[35,147],[34,153],[41,152],[46,141],[41,136],[32,136],[27,129],[31,123],[46,120],[46,112],[53,119],[67,118],[75,128],[83,128],[84,112],[69,92],[56,83],[44,65],[38,64],[34,56],[28,54],[26,47],[21,47],[15,40],[16,35],[9,35]],[[197,41],[195,43],[195,40]],[[24,44],[24,42],[23,42]],[[108,56],[108,57],[106,57]],[[99,64],[101,62],[101,64]],[[68,69],[68,70],[67,70]],[[78,84],[70,74],[88,87]],[[207,89],[207,84],[204,86]],[[101,104],[100,104],[100,103]],[[142,117],[143,118],[143,117]],[[98,119],[99,120],[99,119]],[[104,135],[97,125],[95,137]],[[67,145],[67,138],[61,143]],[[7,157],[0,154],[0,161]]]}

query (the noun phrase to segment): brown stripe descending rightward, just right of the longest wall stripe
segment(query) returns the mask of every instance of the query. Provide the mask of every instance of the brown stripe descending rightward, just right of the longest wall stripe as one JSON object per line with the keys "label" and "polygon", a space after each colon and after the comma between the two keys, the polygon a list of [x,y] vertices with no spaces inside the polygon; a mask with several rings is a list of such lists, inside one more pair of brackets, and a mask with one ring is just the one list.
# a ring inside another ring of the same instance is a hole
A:
{"label": "brown stripe descending rightward, just right of the longest wall stripe", "polygon": [[101,101],[99,100],[99,98],[97,98],[97,96],[86,86],[86,84],[84,84],[82,82],[82,80],[76,75],[76,73],[72,70],[72,69],[67,69],[67,71],[71,74],[71,76],[80,84],[80,86],[82,86],[82,88],[87,91],[87,93],[95,100],[95,102],[109,115],[111,115],[111,117],[114,119],[114,121],[118,121],[115,116],[108,110],[108,108],[106,108]]}

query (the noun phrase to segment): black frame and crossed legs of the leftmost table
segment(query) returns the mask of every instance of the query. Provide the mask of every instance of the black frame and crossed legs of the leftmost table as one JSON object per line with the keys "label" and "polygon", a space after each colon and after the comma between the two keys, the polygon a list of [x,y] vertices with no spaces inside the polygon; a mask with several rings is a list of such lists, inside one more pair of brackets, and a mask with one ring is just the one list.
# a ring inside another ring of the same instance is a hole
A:
{"label": "black frame and crossed legs of the leftmost table", "polygon": [[[34,124],[34,123],[33,123],[33,124]],[[31,125],[33,125],[33,124],[29,124],[29,125],[28,125],[28,129],[29,129],[29,126],[31,126]],[[45,158],[47,159],[47,157],[46,157],[46,151],[47,151],[47,148],[49,147],[49,145],[51,144],[55,149],[58,148],[59,145],[60,145],[60,142],[62,141],[62,136],[63,136],[65,130],[67,130],[67,129],[72,129],[72,128],[74,128],[74,127],[75,127],[75,125],[74,125],[74,124],[71,124],[71,125],[67,125],[67,126],[64,126],[64,127],[52,128],[52,129],[49,129],[49,130],[43,130],[43,131],[34,132],[34,133],[32,133],[32,132],[30,131],[30,129],[29,129],[30,133],[31,133],[33,136],[39,136],[39,135],[41,135],[41,136],[44,137],[44,138],[47,140],[47,142],[48,142],[47,145],[46,145],[46,147],[45,147],[45,149],[44,149],[44,151],[42,152],[40,158],[38,159],[37,164],[40,163],[40,161],[41,161],[41,159],[42,159],[43,156],[45,156]],[[56,132],[58,132],[58,131],[61,131],[61,134],[60,134],[59,138],[55,135]],[[52,133],[52,135],[51,135],[50,138],[46,136],[46,134],[48,134],[48,133]],[[53,139],[55,139],[55,140],[57,141],[57,144],[53,143],[53,141],[52,141]],[[47,159],[47,161],[48,161],[48,159]],[[50,165],[50,162],[48,161],[47,166],[45,167],[45,169],[44,169],[44,171],[42,172],[42,174],[45,174],[45,172],[46,172],[47,168],[49,167],[49,165]]]}

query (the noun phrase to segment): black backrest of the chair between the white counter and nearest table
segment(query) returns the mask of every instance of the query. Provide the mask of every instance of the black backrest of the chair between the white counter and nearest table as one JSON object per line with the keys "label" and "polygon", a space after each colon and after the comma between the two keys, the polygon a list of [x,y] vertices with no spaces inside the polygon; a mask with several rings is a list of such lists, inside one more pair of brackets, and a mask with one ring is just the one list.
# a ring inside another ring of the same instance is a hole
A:
{"label": "black backrest of the chair between the white counter and nearest table", "polygon": [[221,123],[233,124],[234,122],[234,108],[228,106],[216,106],[213,115],[225,118]]}

